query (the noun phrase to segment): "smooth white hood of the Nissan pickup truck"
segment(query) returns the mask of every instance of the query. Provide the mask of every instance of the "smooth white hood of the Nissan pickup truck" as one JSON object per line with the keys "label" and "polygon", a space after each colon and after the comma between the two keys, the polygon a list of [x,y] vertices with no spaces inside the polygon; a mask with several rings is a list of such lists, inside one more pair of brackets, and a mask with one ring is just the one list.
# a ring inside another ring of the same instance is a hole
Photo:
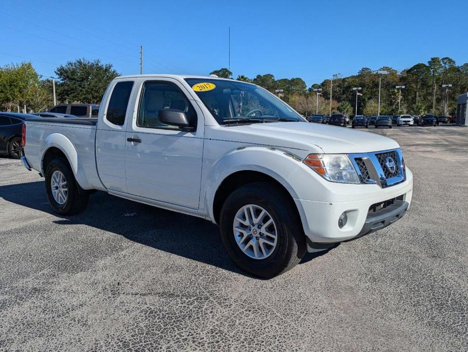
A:
{"label": "smooth white hood of the Nissan pickup truck", "polygon": [[207,128],[206,137],[327,154],[367,153],[399,148],[395,140],[372,132],[307,122],[213,126]]}

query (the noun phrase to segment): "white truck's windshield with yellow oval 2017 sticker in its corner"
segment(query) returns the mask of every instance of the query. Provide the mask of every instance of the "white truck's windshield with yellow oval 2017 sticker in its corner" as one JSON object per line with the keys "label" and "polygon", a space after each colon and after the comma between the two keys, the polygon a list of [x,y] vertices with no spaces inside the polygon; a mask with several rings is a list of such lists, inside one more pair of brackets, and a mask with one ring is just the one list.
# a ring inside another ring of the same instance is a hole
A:
{"label": "white truck's windshield with yellow oval 2017 sticker in its corner", "polygon": [[185,79],[219,124],[304,121],[282,100],[235,80]]}

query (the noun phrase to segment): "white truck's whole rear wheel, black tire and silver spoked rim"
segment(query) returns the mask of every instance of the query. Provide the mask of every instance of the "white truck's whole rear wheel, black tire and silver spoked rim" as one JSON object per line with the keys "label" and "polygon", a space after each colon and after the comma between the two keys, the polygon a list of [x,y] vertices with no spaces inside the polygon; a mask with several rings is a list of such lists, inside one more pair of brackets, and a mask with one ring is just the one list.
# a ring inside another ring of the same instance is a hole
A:
{"label": "white truck's whole rear wheel, black tire and silver spoked rim", "polygon": [[73,172],[63,159],[54,159],[46,170],[46,194],[56,213],[72,215],[82,212],[89,193],[80,188]]}

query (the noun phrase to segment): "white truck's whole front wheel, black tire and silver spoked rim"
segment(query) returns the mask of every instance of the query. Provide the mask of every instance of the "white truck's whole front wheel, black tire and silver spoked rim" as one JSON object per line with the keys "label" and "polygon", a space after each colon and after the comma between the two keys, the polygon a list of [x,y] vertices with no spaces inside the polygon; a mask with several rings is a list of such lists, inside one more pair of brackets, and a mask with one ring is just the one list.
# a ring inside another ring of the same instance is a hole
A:
{"label": "white truck's whole front wheel, black tire and silver spoked rim", "polygon": [[299,263],[306,251],[294,202],[269,182],[232,192],[222,206],[219,227],[231,260],[255,276],[282,274]]}

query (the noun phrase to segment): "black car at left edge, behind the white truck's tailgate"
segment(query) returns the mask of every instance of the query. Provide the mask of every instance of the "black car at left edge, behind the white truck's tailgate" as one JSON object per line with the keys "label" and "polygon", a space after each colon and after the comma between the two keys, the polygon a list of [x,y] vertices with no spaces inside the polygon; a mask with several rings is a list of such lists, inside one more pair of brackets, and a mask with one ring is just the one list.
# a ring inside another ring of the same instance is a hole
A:
{"label": "black car at left edge, behind the white truck's tailgate", "polygon": [[21,158],[21,129],[24,120],[31,116],[29,114],[0,113],[0,154],[9,155],[13,159]]}

